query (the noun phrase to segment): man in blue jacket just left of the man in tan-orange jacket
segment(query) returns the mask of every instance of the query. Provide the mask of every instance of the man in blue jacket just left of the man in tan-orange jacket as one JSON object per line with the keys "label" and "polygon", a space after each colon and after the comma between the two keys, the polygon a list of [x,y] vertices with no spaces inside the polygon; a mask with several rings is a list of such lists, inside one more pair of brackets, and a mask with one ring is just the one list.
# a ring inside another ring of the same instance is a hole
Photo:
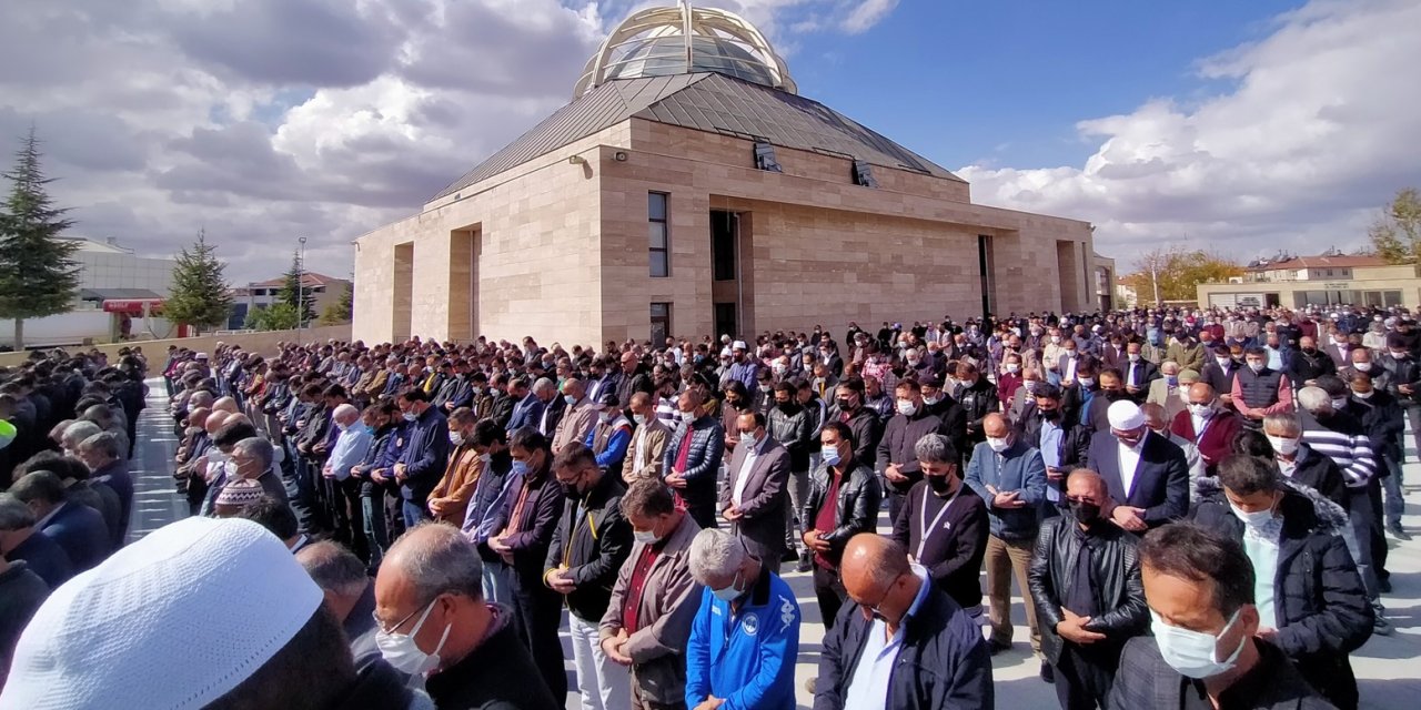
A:
{"label": "man in blue jacket just left of the man in tan-orange jacket", "polygon": [[401,392],[395,405],[406,423],[404,447],[394,473],[404,498],[405,527],[412,528],[428,520],[429,491],[439,483],[449,463],[449,422],[419,388]]}

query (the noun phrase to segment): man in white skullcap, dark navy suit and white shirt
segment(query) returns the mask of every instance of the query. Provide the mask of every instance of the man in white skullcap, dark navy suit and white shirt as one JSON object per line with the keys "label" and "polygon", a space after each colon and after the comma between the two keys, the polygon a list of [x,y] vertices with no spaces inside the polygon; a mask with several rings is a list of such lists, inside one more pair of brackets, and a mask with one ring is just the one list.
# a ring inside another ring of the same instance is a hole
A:
{"label": "man in white skullcap, dark navy suit and white shirt", "polygon": [[1133,532],[1179,520],[1189,511],[1189,463],[1184,450],[1150,430],[1140,405],[1110,405],[1110,436],[1090,440],[1084,469],[1106,480],[1117,503],[1106,514]]}

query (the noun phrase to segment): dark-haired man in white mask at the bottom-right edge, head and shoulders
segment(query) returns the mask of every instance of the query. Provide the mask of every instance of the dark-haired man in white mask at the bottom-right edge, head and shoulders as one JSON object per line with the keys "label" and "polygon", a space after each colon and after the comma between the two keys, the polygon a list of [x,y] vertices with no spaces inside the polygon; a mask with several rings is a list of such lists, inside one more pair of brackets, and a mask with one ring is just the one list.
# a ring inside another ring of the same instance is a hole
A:
{"label": "dark-haired man in white mask at the bottom-right edge, head and shoulders", "polygon": [[1145,535],[1138,554],[1154,633],[1125,643],[1108,707],[1333,707],[1258,638],[1256,575],[1242,545],[1175,523]]}

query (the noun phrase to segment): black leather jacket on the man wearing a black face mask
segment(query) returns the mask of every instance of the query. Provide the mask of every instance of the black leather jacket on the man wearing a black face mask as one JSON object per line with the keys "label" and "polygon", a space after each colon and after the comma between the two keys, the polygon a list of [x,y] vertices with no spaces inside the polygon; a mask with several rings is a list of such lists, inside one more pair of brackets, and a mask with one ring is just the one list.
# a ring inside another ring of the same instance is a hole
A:
{"label": "black leather jacket on the man wearing a black face mask", "polygon": [[[1071,528],[1076,520],[1070,517],[1052,518],[1042,524],[1036,537],[1036,552],[1027,572],[1027,586],[1036,604],[1036,623],[1042,630],[1042,655],[1046,660],[1060,660],[1061,638],[1056,625],[1066,616],[1061,613],[1060,585],[1071,579],[1076,559],[1081,551],[1081,537]],[[1096,574],[1100,581],[1100,595],[1096,602],[1106,612],[1097,613],[1086,630],[1104,633],[1107,642],[1124,646],[1131,636],[1145,632],[1150,625],[1150,608],[1145,605],[1145,588],[1140,582],[1140,555],[1135,552],[1135,535],[1108,521],[1101,521],[1091,531],[1100,545],[1096,554]]]}

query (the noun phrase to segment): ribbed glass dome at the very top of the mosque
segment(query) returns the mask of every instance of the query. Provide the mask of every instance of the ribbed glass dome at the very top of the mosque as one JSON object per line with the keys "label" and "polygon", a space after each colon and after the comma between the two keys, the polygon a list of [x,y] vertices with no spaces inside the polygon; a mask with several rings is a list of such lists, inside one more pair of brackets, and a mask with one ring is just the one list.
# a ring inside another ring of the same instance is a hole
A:
{"label": "ribbed glass dome at the very top of the mosque", "polygon": [[726,10],[686,3],[642,10],[617,26],[587,60],[573,95],[614,80],[708,71],[796,92],[784,60],[755,26]]}

